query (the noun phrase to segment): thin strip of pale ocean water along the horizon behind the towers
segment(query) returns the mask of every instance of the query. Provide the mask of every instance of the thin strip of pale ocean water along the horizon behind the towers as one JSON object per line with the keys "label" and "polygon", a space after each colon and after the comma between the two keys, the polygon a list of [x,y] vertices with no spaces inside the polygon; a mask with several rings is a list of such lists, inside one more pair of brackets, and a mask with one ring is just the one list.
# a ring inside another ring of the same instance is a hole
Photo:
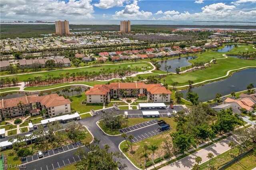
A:
{"label": "thin strip of pale ocean water along the horizon behind the towers", "polygon": [[[255,26],[255,23],[247,22],[194,22],[194,21],[178,21],[178,20],[130,20],[131,25],[199,25],[199,26]],[[1,24],[54,24],[54,23],[1,23]],[[119,25],[120,20],[73,20],[69,24],[75,25]]]}

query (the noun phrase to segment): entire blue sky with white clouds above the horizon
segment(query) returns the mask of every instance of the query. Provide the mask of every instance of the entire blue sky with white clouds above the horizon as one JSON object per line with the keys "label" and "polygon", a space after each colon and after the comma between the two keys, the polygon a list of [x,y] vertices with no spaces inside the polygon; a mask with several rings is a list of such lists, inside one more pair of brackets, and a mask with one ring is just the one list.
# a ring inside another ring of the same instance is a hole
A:
{"label": "entire blue sky with white clouds above the horizon", "polygon": [[1,21],[256,21],[256,0],[1,0]]}

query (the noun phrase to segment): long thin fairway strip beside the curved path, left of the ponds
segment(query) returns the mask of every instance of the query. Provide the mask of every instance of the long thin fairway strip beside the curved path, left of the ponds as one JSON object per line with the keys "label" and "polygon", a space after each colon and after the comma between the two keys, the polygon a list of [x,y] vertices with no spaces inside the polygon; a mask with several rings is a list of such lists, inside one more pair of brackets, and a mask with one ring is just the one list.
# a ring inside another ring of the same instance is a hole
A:
{"label": "long thin fairway strip beside the curved path, left of the ponds", "polygon": [[[24,74],[24,75],[15,75],[15,76],[10,76],[9,78],[16,78],[18,77],[18,79],[20,81],[24,81],[28,78],[34,78],[34,77],[38,77],[38,76],[42,76],[43,78],[45,78],[46,75],[50,74],[53,76],[59,76],[60,73],[67,73],[69,72],[71,73],[77,73],[77,72],[81,72],[81,71],[88,71],[88,72],[93,72],[93,71],[100,71],[100,69],[110,69],[110,71],[114,71],[114,69],[118,69],[118,67],[120,66],[122,67],[127,67],[128,65],[130,65],[130,68],[135,68],[138,67],[138,71],[139,72],[143,72],[144,70],[142,70],[142,67],[151,67],[151,69],[153,68],[152,65],[150,65],[150,63],[146,63],[146,62],[142,62],[142,63],[126,63],[126,64],[113,64],[113,65],[96,65],[93,67],[85,67],[85,68],[74,68],[74,69],[62,69],[62,70],[55,70],[55,71],[47,71],[47,72],[42,72],[42,73],[31,73],[31,74]],[[127,67],[128,68],[128,67]]]}

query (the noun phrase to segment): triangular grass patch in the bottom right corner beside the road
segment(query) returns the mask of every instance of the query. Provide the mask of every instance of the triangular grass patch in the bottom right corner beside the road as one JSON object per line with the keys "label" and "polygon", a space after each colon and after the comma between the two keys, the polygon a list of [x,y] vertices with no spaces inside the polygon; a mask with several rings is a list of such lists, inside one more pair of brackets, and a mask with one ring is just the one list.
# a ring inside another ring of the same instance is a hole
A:
{"label": "triangular grass patch in the bottom right corner beside the road", "polygon": [[256,167],[256,156],[253,155],[253,153],[248,154],[241,160],[239,160],[238,163],[234,163],[226,170],[250,170]]}

